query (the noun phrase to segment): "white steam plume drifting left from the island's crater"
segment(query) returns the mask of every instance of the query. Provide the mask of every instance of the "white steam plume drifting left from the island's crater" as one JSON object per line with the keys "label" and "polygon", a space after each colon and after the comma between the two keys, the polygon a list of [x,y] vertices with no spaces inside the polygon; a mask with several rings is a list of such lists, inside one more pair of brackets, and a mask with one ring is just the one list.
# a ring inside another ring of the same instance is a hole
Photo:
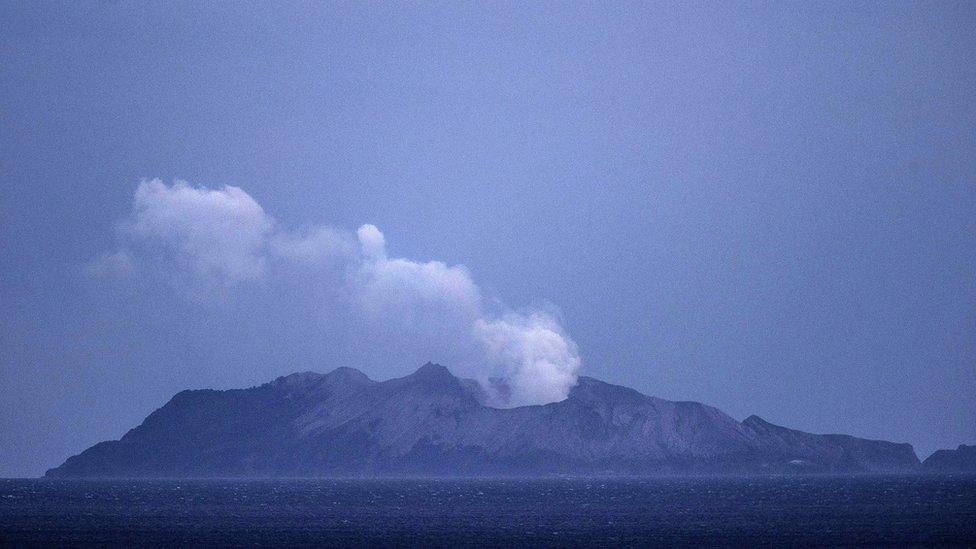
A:
{"label": "white steam plume drifting left from the island's crater", "polygon": [[[463,266],[390,257],[385,236],[371,224],[354,233],[324,225],[289,229],[238,187],[157,179],[139,184],[118,239],[90,271],[162,273],[176,291],[195,295],[232,295],[271,278],[288,288],[295,272],[306,273],[325,290],[309,299],[333,301],[322,310],[347,308],[388,334],[380,344],[400,338],[457,350],[466,358],[452,368],[478,380],[497,406],[559,401],[576,384],[579,352],[555,314],[489,302]],[[308,276],[291,291],[307,290]],[[393,348],[390,357],[396,359]]]}

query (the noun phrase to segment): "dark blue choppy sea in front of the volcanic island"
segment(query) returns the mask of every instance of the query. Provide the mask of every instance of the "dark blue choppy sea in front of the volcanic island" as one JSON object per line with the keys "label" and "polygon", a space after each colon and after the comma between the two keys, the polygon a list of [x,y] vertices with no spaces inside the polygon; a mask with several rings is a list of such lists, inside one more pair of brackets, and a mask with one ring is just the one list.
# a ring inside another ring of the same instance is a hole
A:
{"label": "dark blue choppy sea in front of the volcanic island", "polygon": [[976,477],[0,480],[0,545],[976,546]]}

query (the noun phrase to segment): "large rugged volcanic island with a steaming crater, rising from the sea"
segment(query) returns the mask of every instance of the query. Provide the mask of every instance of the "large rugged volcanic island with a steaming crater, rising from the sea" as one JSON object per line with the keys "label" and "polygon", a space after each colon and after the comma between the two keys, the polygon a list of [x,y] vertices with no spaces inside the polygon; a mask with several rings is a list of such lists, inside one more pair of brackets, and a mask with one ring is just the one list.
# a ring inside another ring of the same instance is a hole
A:
{"label": "large rugged volcanic island with a steaming crater, rising from the sea", "polygon": [[351,368],[250,389],[183,391],[49,477],[237,477],[908,471],[909,444],[738,422],[580,378],[545,406],[485,406],[427,364],[377,382]]}

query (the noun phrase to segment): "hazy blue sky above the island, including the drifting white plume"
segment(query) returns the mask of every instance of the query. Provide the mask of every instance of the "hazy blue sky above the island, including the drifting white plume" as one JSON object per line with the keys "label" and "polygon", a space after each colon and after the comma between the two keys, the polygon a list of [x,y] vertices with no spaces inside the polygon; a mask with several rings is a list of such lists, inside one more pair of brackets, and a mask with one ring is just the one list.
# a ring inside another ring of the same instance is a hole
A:
{"label": "hazy blue sky above the island, including the drifting white plume", "polygon": [[0,476],[539,348],[976,442],[976,4],[204,4],[0,3]]}

